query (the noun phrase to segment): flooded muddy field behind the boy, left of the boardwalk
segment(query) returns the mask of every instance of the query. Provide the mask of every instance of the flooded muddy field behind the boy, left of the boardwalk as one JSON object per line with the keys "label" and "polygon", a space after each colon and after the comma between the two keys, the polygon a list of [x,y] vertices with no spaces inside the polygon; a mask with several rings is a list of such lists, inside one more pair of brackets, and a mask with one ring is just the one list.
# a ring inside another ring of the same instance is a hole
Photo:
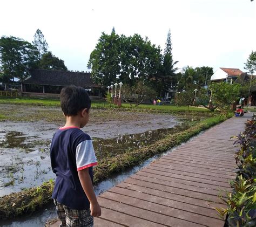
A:
{"label": "flooded muddy field behind the boy, left of the boardwalk", "polygon": [[[55,178],[49,152],[53,134],[64,125],[59,107],[1,105],[0,114],[6,116],[0,121],[0,196]],[[92,137],[99,160],[146,146],[181,127],[186,128],[168,114],[92,109],[82,130]]]}

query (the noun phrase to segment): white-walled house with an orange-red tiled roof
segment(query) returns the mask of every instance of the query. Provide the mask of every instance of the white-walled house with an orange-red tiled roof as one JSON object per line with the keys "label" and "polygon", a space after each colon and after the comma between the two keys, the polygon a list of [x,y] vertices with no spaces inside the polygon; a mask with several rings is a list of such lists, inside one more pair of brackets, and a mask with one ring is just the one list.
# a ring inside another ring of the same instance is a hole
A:
{"label": "white-walled house with an orange-red tiled roof", "polygon": [[218,68],[211,76],[211,81],[226,81],[233,83],[242,73],[239,68]]}

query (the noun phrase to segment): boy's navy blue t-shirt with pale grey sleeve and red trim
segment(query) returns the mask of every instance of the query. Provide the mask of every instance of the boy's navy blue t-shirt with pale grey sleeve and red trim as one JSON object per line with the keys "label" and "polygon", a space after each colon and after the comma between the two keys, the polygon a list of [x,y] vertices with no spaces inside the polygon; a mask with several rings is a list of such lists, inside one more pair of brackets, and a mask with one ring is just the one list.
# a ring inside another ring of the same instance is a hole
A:
{"label": "boy's navy blue t-shirt with pale grey sleeve and red trim", "polygon": [[77,127],[60,128],[52,138],[50,157],[56,174],[52,198],[71,209],[89,209],[78,171],[89,168],[92,180],[92,166],[97,160],[91,137]]}

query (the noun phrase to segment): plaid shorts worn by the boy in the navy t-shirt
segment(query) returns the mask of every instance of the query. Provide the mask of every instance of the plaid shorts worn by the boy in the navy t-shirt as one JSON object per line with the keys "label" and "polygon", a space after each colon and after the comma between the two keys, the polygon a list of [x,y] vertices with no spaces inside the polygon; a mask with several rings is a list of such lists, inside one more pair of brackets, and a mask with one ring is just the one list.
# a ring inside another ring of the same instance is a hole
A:
{"label": "plaid shorts worn by the boy in the navy t-shirt", "polygon": [[76,210],[60,204],[56,200],[53,200],[53,202],[56,205],[57,214],[61,222],[59,226],[93,227],[90,208],[88,210]]}

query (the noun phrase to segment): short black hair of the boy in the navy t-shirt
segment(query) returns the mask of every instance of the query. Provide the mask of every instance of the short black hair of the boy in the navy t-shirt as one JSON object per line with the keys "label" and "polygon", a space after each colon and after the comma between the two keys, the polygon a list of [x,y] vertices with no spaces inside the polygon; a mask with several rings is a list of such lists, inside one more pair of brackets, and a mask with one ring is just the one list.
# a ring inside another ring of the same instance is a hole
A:
{"label": "short black hair of the boy in the navy t-shirt", "polygon": [[63,87],[60,92],[60,105],[65,116],[76,116],[84,108],[91,108],[91,99],[83,87]]}

